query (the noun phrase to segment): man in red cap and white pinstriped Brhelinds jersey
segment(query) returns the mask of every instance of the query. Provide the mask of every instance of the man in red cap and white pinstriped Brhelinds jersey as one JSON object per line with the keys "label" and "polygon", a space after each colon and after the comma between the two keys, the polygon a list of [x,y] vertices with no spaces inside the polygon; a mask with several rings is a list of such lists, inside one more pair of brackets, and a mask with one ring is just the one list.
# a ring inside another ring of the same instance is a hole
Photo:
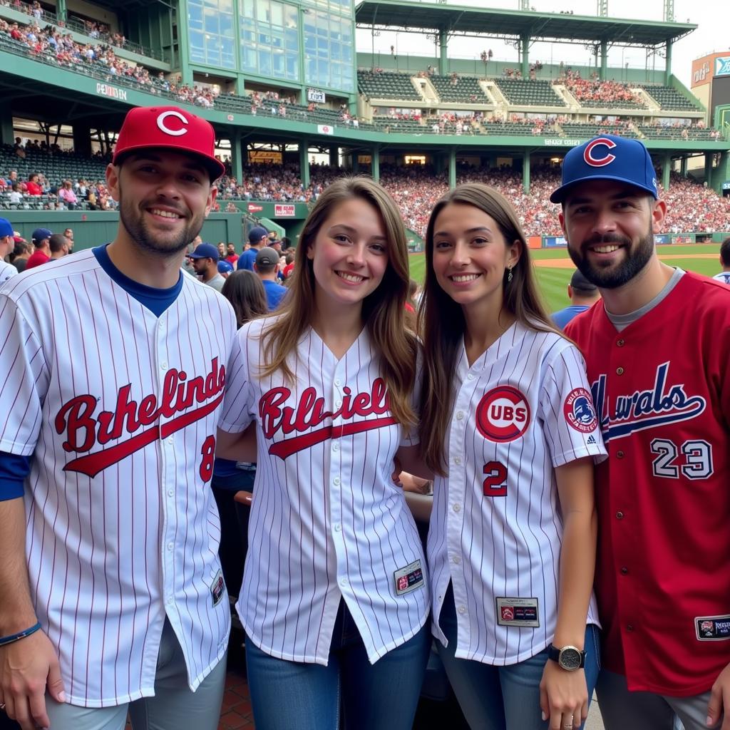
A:
{"label": "man in red cap and white pinstriped Brhelinds jersey", "polygon": [[128,112],[115,239],[0,293],[0,708],[23,730],[218,726],[230,608],[209,482],[236,322],[180,271],[223,174],[214,145],[187,110]]}

